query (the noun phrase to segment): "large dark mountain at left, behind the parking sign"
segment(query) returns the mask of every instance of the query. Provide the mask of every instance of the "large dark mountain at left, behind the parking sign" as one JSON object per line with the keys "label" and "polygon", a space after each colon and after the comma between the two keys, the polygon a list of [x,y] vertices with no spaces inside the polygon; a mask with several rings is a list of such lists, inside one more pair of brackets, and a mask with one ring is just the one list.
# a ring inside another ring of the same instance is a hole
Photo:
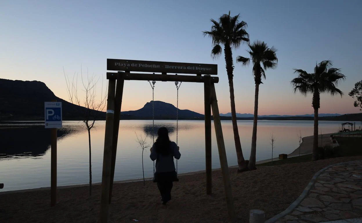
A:
{"label": "large dark mountain at left, behind the parking sign", "polygon": [[[58,98],[40,81],[0,79],[0,120],[44,120],[44,102],[62,102],[63,120],[81,120],[86,108]],[[96,112],[105,119],[105,112]]]}

